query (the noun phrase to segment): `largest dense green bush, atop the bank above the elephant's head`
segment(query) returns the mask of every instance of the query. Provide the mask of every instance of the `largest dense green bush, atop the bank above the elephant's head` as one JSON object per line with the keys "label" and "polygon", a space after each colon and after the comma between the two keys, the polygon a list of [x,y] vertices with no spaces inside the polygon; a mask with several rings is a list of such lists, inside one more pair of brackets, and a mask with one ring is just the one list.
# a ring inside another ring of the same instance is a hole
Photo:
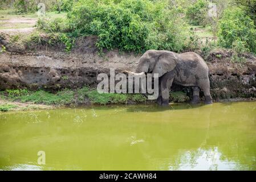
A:
{"label": "largest dense green bush, atop the bank above the elephant's head", "polygon": [[141,52],[147,49],[181,51],[186,25],[168,1],[81,0],[68,13],[73,36],[96,35],[102,50]]}

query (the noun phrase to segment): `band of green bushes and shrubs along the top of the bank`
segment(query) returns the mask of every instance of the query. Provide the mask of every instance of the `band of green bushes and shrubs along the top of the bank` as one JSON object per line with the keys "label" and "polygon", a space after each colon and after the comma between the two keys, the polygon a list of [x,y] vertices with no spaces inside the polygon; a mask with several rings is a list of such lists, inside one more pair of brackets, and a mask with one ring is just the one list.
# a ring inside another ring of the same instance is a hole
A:
{"label": "band of green bushes and shrubs along the top of the bank", "polygon": [[[37,0],[14,2],[17,13],[33,13],[39,8]],[[226,48],[233,50],[234,62],[245,60],[243,55],[247,52],[256,53],[255,9],[251,7],[254,0],[40,2],[46,5],[46,16],[38,19],[39,32],[34,32],[25,44],[62,44],[69,53],[76,39],[96,35],[99,53],[103,49],[141,53],[147,49],[166,49],[195,51],[206,58],[213,49]],[[8,3],[11,6],[6,0],[2,7]],[[213,3],[217,11],[209,16]],[[51,11],[66,14],[50,18],[47,15]],[[47,39],[42,38],[42,32]]]}

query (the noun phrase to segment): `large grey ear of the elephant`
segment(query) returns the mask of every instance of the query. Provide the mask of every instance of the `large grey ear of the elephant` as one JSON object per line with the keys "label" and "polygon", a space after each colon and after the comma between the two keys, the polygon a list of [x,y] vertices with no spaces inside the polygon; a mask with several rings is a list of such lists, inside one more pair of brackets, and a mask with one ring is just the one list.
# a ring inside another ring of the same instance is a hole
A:
{"label": "large grey ear of the elephant", "polygon": [[169,52],[161,53],[155,67],[153,68],[152,74],[159,73],[159,77],[161,77],[165,73],[172,71],[176,65],[177,58],[175,55]]}

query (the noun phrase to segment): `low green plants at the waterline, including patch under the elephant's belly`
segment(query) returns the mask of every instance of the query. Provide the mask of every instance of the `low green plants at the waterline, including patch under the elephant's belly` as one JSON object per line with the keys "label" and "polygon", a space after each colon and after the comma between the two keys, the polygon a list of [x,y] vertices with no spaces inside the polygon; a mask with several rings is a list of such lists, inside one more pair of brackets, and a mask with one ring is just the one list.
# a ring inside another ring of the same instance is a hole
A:
{"label": "low green plants at the waterline, including patch under the elephant's belly", "polygon": [[[15,102],[43,105],[80,105],[80,104],[144,104],[149,100],[142,94],[98,93],[97,90],[84,86],[80,89],[64,89],[55,93],[46,90],[6,89],[0,92],[0,111],[9,111],[18,107]],[[189,97],[184,92],[170,92],[173,102],[187,102]],[[23,106],[22,110],[40,109],[42,106]],[[21,108],[19,108],[21,109]]]}

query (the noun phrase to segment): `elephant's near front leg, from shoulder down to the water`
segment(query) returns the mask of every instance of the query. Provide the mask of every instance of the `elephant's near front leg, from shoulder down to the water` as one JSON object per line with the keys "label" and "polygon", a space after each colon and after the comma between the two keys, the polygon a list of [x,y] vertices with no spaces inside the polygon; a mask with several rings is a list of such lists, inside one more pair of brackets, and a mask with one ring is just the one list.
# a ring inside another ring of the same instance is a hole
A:
{"label": "elephant's near front leg, from shoulder down to the water", "polygon": [[169,93],[170,87],[172,86],[172,82],[174,80],[175,73],[174,71],[170,71],[165,73],[164,76],[161,78],[161,97],[162,97],[162,104],[161,105],[169,105]]}

